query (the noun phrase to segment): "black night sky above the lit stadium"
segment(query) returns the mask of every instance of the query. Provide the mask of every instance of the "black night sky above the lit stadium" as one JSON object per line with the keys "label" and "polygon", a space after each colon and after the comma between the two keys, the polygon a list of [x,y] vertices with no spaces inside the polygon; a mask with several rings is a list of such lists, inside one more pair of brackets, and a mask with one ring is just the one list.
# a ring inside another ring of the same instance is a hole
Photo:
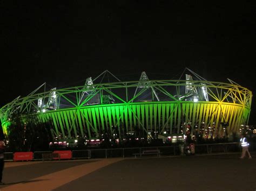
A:
{"label": "black night sky above the lit stadium", "polygon": [[[178,79],[187,67],[255,95],[255,3],[152,2],[0,1],[1,106],[44,82],[82,85],[106,69],[156,80]],[[256,124],[255,114],[253,101]]]}

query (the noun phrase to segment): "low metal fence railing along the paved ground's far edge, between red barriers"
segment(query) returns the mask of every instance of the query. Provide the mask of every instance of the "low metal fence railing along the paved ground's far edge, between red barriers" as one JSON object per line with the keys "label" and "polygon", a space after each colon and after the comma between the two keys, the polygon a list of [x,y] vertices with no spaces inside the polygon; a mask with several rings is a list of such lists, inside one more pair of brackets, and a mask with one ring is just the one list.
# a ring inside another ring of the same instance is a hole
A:
{"label": "low metal fence railing along the paved ground's far edge, between red barriers", "polygon": [[[254,146],[253,146],[254,148]],[[114,157],[134,157],[134,153],[142,153],[143,150],[159,150],[161,156],[179,155],[181,154],[179,145],[172,146],[156,146],[156,147],[131,147],[131,148],[105,148],[91,150],[73,150],[70,159],[97,159],[97,158],[114,158]],[[211,153],[228,153],[240,152],[241,148],[238,143],[215,143],[215,144],[199,144],[195,145],[196,154]],[[52,151],[35,151],[33,152],[33,160],[56,159]],[[58,159],[62,159],[61,155]],[[5,152],[5,161],[14,160],[14,153]]]}

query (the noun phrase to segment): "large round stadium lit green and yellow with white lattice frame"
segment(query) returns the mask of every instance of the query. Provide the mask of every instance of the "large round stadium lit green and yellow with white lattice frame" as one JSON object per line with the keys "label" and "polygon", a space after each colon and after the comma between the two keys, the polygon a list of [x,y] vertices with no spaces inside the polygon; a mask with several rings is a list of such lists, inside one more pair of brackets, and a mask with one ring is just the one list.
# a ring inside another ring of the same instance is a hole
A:
{"label": "large round stadium lit green and yellow with white lattice frame", "polygon": [[[103,83],[106,76],[113,82]],[[121,81],[106,70],[82,86],[46,89],[42,84],[26,97],[1,108],[4,135],[12,115],[35,124],[48,122],[52,137],[94,138],[104,131],[122,137],[138,128],[143,135],[183,133],[222,137],[247,125],[252,91],[228,79],[211,82],[186,68],[178,80],[151,80],[142,72],[136,81]]]}

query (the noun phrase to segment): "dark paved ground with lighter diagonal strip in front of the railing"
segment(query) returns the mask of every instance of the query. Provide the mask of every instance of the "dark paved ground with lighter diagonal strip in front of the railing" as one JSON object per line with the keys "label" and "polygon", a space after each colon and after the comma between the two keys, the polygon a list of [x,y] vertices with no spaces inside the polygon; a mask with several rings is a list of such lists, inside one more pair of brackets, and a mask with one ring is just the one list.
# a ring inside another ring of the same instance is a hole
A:
{"label": "dark paved ground with lighter diagonal strip in front of the railing", "polygon": [[256,153],[6,162],[2,190],[256,190]]}

